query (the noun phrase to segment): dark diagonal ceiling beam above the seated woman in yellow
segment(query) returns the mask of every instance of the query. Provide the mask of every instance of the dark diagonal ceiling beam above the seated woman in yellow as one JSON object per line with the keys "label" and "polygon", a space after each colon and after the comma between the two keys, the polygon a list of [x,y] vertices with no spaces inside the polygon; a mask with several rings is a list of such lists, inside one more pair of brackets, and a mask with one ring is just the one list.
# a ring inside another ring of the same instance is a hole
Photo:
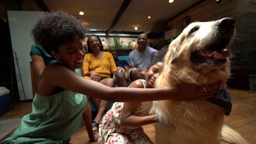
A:
{"label": "dark diagonal ceiling beam above the seated woman in yellow", "polygon": [[118,11],[118,13],[116,14],[116,17],[114,18],[112,24],[110,25],[108,30],[106,30],[106,38],[108,38],[109,34],[112,32],[113,28],[116,26],[116,23],[121,18],[122,14],[126,10],[127,6],[130,4],[130,2],[131,2],[131,0],[124,0],[122,6],[120,7],[120,9]]}

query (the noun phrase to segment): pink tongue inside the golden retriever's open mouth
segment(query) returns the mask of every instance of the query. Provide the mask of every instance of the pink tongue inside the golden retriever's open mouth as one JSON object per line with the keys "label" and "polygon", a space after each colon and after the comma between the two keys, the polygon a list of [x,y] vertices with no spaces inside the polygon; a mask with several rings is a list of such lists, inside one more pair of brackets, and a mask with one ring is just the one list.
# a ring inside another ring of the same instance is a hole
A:
{"label": "pink tongue inside the golden retriever's open mouth", "polygon": [[225,59],[227,57],[230,57],[230,51],[229,50],[222,51],[222,50],[207,49],[207,50],[204,50],[204,52],[206,53],[206,55],[208,57],[214,56],[214,58],[218,58],[218,59]]}

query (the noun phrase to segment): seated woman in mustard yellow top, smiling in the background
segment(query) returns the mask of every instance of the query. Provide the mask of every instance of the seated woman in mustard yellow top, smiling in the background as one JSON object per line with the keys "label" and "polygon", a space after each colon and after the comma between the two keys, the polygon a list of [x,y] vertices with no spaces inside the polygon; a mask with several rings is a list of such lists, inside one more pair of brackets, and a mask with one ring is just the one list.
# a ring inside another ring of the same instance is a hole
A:
{"label": "seated woman in mustard yellow top, smiling in the background", "polygon": [[[115,70],[125,71],[122,67],[116,67],[114,58],[110,52],[104,52],[102,42],[96,35],[87,40],[88,54],[84,56],[84,76],[108,87],[115,87],[115,80],[111,78]],[[91,102],[97,108],[98,113],[94,118],[94,131],[98,131],[98,124],[104,116],[110,102],[90,97]]]}

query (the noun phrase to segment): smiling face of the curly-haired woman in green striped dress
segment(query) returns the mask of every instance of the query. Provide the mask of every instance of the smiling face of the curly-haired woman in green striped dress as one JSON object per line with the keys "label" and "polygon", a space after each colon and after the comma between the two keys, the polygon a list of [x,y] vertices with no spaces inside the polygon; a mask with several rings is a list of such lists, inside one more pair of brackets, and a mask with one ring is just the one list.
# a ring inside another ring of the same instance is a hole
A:
{"label": "smiling face of the curly-haired woman in green striped dress", "polygon": [[52,55],[58,60],[58,63],[72,71],[83,66],[85,53],[81,39],[60,45],[58,53],[52,51]]}

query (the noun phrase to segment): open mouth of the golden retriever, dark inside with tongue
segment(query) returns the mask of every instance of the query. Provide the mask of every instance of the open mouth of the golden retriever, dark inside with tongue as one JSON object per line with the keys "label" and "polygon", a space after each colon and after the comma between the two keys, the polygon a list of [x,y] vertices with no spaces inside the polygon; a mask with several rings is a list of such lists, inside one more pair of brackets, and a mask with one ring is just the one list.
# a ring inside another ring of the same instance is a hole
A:
{"label": "open mouth of the golden retriever, dark inside with tongue", "polygon": [[229,43],[230,38],[223,37],[217,44],[212,44],[204,50],[192,52],[191,60],[194,63],[224,64],[226,62],[226,58],[230,57],[230,51],[225,50]]}

